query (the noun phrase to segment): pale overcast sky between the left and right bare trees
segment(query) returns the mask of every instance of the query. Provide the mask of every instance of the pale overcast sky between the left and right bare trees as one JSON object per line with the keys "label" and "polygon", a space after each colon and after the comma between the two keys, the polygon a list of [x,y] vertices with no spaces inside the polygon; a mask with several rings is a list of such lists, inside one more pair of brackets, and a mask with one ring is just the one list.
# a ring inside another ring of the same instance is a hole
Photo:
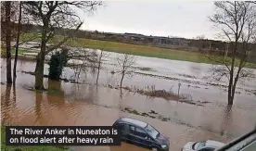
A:
{"label": "pale overcast sky between the left and right bare trees", "polygon": [[83,14],[83,30],[215,39],[208,17],[211,1],[105,1],[92,16]]}

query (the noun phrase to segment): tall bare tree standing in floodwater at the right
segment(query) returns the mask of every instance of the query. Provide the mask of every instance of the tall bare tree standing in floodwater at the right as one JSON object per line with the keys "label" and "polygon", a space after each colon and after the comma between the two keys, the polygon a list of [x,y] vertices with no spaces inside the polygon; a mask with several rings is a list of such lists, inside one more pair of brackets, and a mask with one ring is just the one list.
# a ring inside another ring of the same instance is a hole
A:
{"label": "tall bare tree standing in floodwater at the right", "polygon": [[218,80],[228,79],[228,105],[233,105],[238,79],[251,75],[244,67],[255,48],[252,43],[256,33],[256,7],[246,1],[218,1],[214,6],[216,11],[210,19],[222,31],[220,38],[226,45],[221,57],[211,57],[224,66],[214,66],[212,71]]}

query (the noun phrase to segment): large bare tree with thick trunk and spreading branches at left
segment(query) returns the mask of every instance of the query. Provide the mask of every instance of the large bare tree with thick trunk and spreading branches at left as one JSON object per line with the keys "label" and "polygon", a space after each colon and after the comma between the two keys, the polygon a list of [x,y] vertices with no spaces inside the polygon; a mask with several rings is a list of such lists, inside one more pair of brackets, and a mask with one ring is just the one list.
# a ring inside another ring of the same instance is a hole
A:
{"label": "large bare tree with thick trunk and spreading branches at left", "polygon": [[[36,57],[35,89],[44,89],[45,56],[67,42],[75,31],[78,31],[83,22],[77,16],[77,10],[92,11],[102,2],[96,1],[27,1],[24,2],[24,13],[30,16],[33,24],[42,26],[41,50]],[[76,10],[74,10],[76,9]],[[58,44],[47,48],[46,44],[54,38],[57,29],[74,29]]]}

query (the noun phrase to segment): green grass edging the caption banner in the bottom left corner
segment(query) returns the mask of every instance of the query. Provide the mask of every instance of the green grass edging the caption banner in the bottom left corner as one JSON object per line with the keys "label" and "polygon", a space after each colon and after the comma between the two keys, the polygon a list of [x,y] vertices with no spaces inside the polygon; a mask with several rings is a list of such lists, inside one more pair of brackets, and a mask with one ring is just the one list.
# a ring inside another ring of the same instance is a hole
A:
{"label": "green grass edging the caption banner in the bottom left corner", "polygon": [[6,127],[1,126],[1,150],[3,151],[67,151],[61,146],[6,146]]}

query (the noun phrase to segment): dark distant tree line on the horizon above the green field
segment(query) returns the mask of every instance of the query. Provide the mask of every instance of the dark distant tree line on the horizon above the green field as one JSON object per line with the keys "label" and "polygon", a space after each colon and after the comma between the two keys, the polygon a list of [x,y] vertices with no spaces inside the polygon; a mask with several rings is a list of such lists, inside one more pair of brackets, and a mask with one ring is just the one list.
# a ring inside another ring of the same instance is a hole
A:
{"label": "dark distant tree line on the horizon above the green field", "polygon": [[[1,20],[2,24],[6,24],[4,20]],[[12,22],[12,26],[17,26],[17,23]],[[42,31],[43,26],[41,25],[34,25],[34,24],[28,24],[28,23],[22,23],[21,25],[21,31],[24,33],[36,33],[38,31]],[[68,31],[71,31],[70,29],[63,29],[56,27],[55,32],[56,35],[65,36],[65,33]],[[125,33],[124,33],[125,34]],[[159,44],[153,44],[153,38],[157,38],[154,36],[148,37],[144,35],[140,35],[141,37],[144,36],[143,39],[137,40],[134,42],[132,39],[133,35],[127,36],[121,33],[107,33],[107,32],[98,32],[98,31],[83,31],[78,30],[75,33],[73,33],[73,36],[76,38],[85,38],[85,39],[93,39],[93,40],[100,40],[100,41],[109,41],[109,42],[119,42],[119,43],[125,43],[125,44],[152,44],[154,46],[160,46]],[[126,33],[127,34],[127,33]],[[173,46],[182,46],[184,50],[187,50],[191,47],[197,48],[198,52],[201,53],[207,53],[211,52],[216,55],[222,55],[222,50],[226,47],[226,42],[220,41],[220,40],[210,40],[205,38],[204,35],[197,36],[196,38],[192,39],[181,39],[178,40],[176,38],[166,38],[163,41],[164,47],[166,48],[173,48]],[[255,51],[256,52],[256,51]],[[253,62],[254,60],[251,59],[255,54],[250,55],[249,62]],[[256,62],[254,62],[256,63]]]}

